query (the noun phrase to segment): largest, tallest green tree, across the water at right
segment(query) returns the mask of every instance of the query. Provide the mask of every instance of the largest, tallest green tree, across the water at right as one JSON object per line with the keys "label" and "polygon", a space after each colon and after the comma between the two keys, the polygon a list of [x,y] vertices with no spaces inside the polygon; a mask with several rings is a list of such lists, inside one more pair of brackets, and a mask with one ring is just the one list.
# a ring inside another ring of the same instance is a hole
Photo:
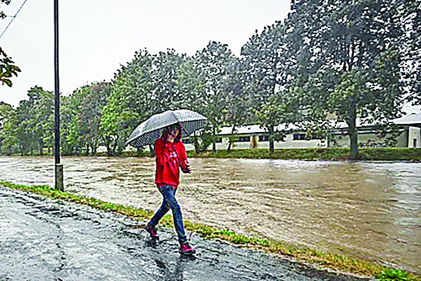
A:
{"label": "largest, tallest green tree, across the water at right", "polygon": [[304,98],[302,108],[318,106],[325,113],[322,118],[333,111],[338,121],[348,124],[351,159],[358,157],[358,116],[362,124],[382,126],[401,112],[405,88],[400,8],[392,0],[291,4],[288,48],[295,48],[301,58],[297,81],[301,86],[314,84],[314,77],[319,81],[318,93]]}

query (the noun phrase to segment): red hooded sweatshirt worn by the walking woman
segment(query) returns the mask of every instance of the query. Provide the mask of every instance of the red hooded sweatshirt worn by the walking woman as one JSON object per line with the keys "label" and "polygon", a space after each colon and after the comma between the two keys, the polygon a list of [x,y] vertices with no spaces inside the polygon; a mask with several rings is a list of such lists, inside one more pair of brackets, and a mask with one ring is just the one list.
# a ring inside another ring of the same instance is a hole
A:
{"label": "red hooded sweatshirt worn by the walking woman", "polygon": [[172,185],[177,188],[180,184],[180,162],[183,164],[183,167],[187,162],[184,144],[182,141],[177,143],[164,142],[162,138],[158,138],[155,141],[155,155],[156,185]]}

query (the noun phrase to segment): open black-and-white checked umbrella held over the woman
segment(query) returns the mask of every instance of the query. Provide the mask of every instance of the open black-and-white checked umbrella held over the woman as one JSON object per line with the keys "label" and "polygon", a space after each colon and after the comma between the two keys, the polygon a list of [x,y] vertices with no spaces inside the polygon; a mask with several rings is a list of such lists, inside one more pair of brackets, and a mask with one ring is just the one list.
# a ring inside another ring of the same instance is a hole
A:
{"label": "open black-and-white checked umbrella held over the woman", "polygon": [[126,145],[135,148],[152,145],[161,136],[163,128],[175,123],[181,124],[183,136],[189,136],[205,126],[206,117],[192,110],[168,110],[152,115],[131,133]]}

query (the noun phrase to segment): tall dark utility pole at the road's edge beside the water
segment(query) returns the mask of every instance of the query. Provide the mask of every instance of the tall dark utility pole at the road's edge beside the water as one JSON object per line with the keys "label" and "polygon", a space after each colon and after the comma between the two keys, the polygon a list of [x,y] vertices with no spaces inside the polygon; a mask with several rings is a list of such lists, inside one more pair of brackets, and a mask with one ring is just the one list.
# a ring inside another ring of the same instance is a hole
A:
{"label": "tall dark utility pole at the road's edge beside the water", "polygon": [[58,0],[54,0],[54,156],[55,189],[65,190],[63,185],[63,165],[60,163],[60,79],[58,76]]}

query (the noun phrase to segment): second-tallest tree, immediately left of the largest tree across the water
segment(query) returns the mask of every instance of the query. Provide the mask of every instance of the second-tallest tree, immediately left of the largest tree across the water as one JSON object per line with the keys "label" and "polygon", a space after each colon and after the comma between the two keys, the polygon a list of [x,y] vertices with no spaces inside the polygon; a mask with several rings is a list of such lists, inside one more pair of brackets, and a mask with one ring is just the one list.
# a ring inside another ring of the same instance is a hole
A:
{"label": "second-tallest tree, immediately left of the largest tree across the water", "polygon": [[267,26],[262,33],[253,35],[241,49],[248,67],[250,81],[250,109],[255,118],[269,133],[269,151],[274,152],[274,141],[281,140],[286,131],[276,131],[280,124],[286,127],[298,120],[294,109],[296,100],[290,83],[290,60],[286,48],[286,26],[282,22]]}

